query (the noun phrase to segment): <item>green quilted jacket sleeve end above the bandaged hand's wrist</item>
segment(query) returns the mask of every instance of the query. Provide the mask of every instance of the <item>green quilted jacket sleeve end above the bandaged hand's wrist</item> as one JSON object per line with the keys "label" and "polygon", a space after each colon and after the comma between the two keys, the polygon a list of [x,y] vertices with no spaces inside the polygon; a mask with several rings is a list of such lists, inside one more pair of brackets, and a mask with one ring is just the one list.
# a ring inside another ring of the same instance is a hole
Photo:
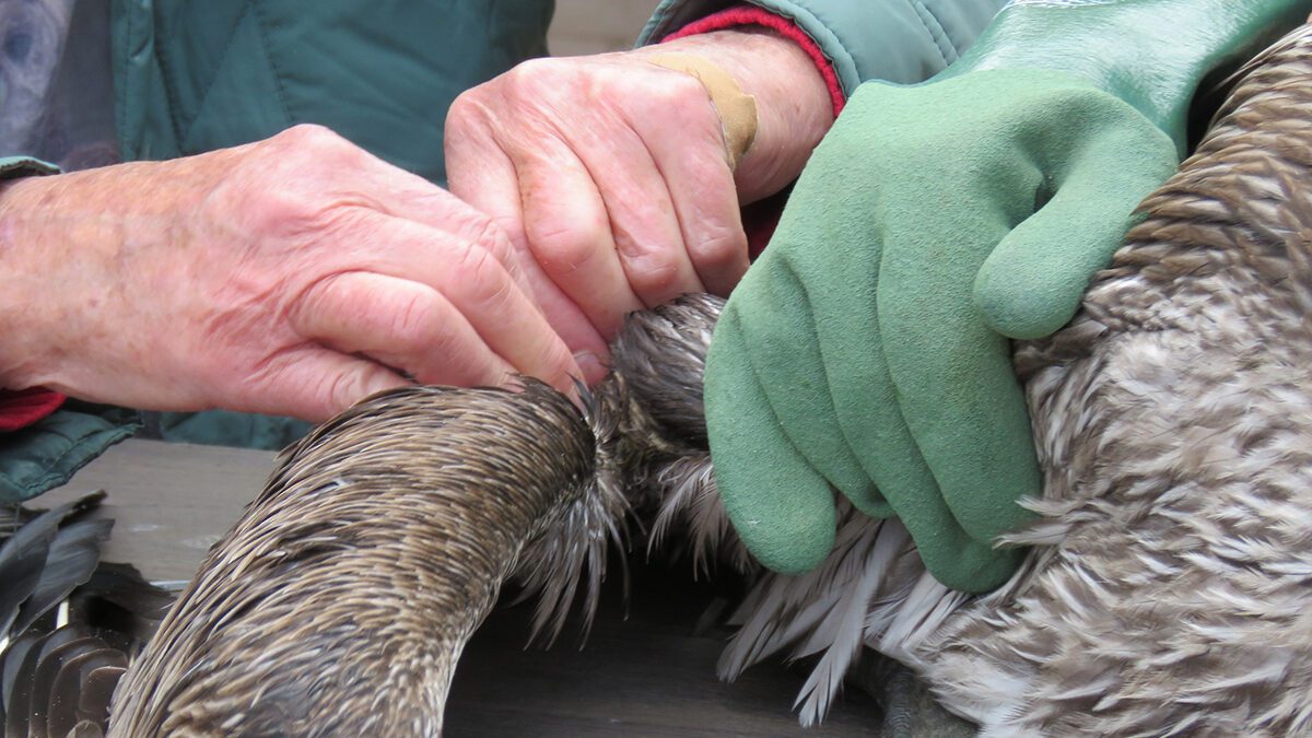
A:
{"label": "green quilted jacket sleeve end above the bandaged hand's wrist", "polygon": [[[846,95],[866,80],[924,81],[956,60],[1005,0],[750,0],[791,20],[833,63]],[[733,0],[664,0],[639,45],[653,43],[735,5]]]}

